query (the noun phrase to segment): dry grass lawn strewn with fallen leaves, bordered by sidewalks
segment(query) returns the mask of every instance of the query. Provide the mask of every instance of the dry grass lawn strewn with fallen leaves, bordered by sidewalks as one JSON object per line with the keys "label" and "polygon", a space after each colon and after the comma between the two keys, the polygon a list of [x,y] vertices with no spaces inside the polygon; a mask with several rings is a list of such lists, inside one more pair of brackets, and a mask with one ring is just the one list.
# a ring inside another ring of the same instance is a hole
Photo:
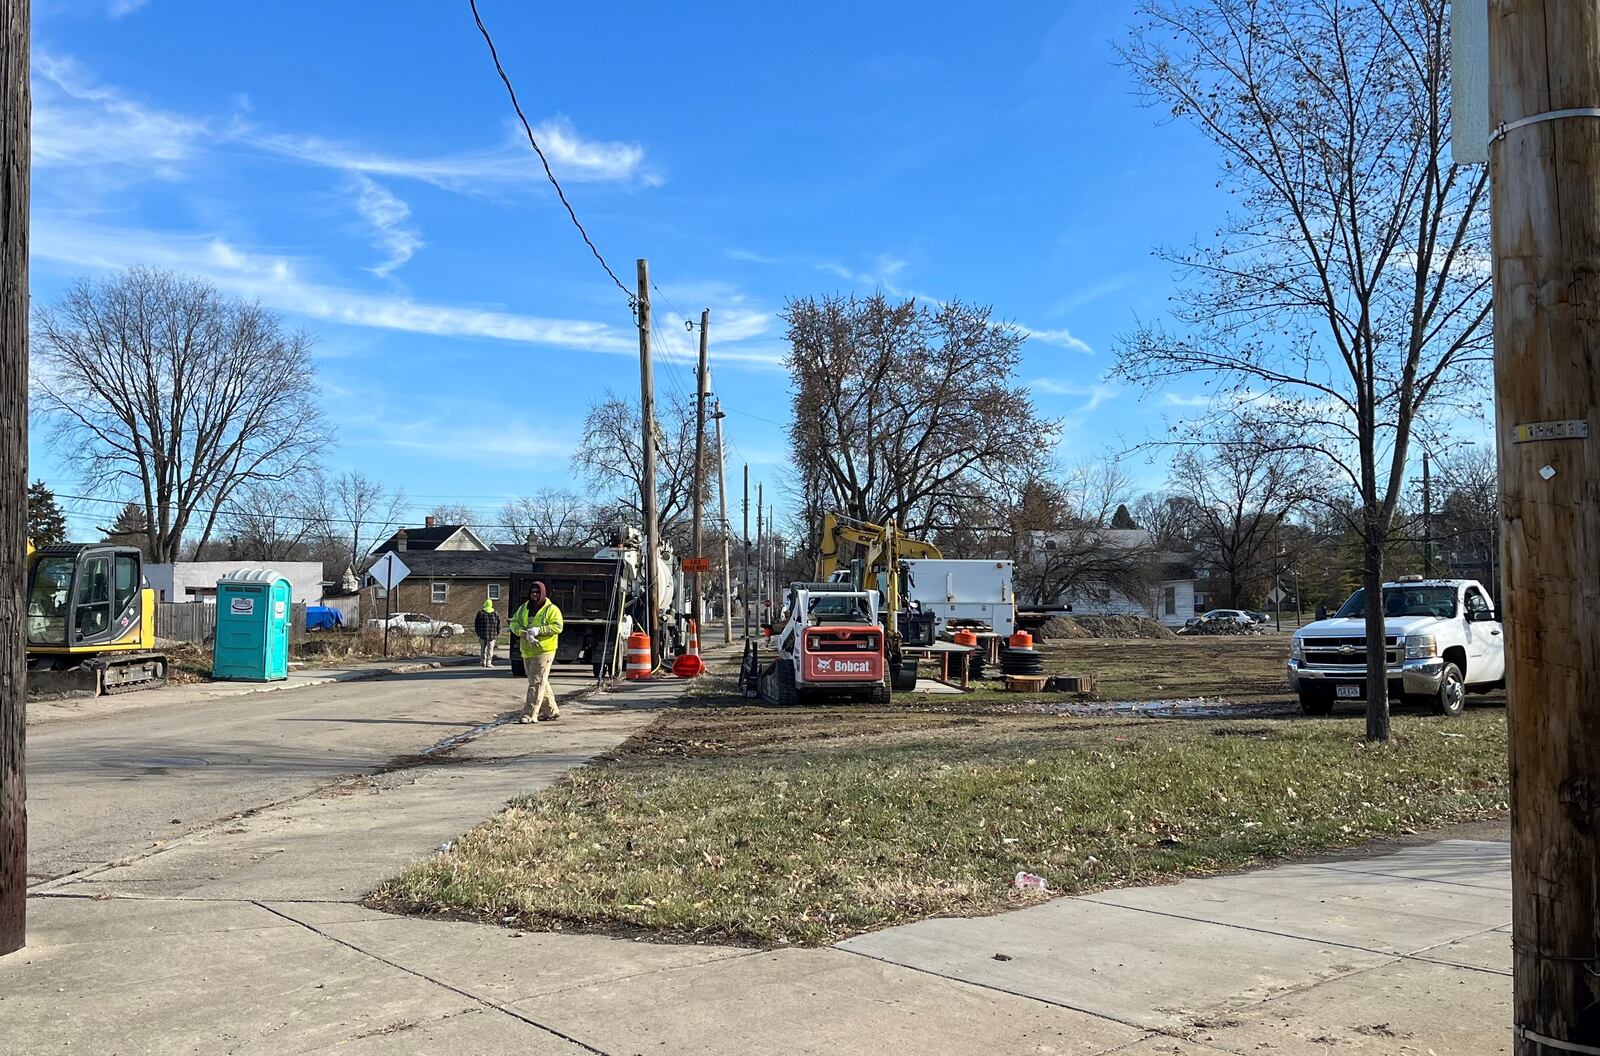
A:
{"label": "dry grass lawn strewn with fallen leaves, bordered by sidewalks", "polygon": [[[1243,642],[1266,693],[1270,650]],[[1061,651],[1112,685],[1160,694],[1168,682],[1250,677],[1238,653],[1206,659],[1214,642],[1178,643],[1149,672],[1126,645],[1138,643]],[[749,707],[725,674],[698,690],[694,707],[515,802],[386,885],[376,904],[530,928],[821,944],[1038,898],[1013,890],[1018,870],[1054,891],[1090,891],[1506,811],[1498,707],[1397,715],[1394,742],[1368,746],[1354,710],[1085,720],[981,702],[952,710],[949,698],[778,710]]]}

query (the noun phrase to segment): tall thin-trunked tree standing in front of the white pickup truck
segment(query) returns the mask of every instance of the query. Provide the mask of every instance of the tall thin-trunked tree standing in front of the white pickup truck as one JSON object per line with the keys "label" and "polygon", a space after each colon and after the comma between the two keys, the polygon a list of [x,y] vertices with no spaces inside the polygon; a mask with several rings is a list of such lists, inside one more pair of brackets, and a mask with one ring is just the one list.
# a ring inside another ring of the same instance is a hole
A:
{"label": "tall thin-trunked tree standing in front of the white pickup truck", "polygon": [[[1122,58],[1222,154],[1237,202],[1186,275],[1176,328],[1120,376],[1211,374],[1246,421],[1294,427],[1360,496],[1370,739],[1389,738],[1384,550],[1413,427],[1482,384],[1483,168],[1450,144],[1445,0],[1146,0]],[[1474,376],[1477,374],[1477,376]]]}

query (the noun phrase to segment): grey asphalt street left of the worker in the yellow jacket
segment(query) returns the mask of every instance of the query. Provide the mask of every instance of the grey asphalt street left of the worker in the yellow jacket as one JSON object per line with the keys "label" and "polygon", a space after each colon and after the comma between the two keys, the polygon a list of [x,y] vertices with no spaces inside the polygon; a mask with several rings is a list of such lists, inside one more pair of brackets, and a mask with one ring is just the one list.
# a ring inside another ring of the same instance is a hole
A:
{"label": "grey asphalt street left of the worker in the yellow jacket", "polygon": [[[587,680],[574,667],[562,683],[568,694]],[[30,728],[29,875],[112,862],[341,776],[403,765],[504,718],[522,694],[504,667],[443,667]]]}

